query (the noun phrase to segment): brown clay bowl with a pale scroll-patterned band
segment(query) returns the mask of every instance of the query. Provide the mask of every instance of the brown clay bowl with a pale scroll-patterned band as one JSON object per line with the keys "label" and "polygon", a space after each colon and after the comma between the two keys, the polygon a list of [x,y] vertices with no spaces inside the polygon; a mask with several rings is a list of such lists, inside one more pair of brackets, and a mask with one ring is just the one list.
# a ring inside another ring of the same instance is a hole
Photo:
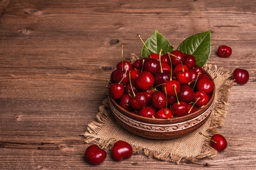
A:
{"label": "brown clay bowl with a pale scroll-patterned band", "polygon": [[[206,71],[204,72],[213,80]],[[214,85],[211,99],[203,108],[173,119],[154,119],[136,115],[119,106],[115,99],[108,96],[112,114],[124,129],[149,139],[175,139],[195,131],[207,121],[213,110],[215,91]]]}

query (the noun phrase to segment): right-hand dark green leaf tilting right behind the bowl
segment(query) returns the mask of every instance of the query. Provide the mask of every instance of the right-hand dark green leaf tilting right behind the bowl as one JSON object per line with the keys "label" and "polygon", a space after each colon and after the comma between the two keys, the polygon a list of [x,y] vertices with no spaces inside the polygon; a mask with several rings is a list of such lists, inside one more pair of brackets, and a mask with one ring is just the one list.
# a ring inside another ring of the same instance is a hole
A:
{"label": "right-hand dark green leaf tilting right behind the bowl", "polygon": [[194,55],[196,64],[202,67],[211,54],[211,30],[192,35],[184,40],[177,50]]}

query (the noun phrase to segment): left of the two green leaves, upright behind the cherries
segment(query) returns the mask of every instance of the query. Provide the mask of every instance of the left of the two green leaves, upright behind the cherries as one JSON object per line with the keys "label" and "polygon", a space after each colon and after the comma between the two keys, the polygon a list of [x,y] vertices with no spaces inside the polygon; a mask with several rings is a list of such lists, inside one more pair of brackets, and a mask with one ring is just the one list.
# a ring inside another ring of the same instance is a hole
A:
{"label": "left of the two green leaves, upright behind the cherries", "polygon": [[173,46],[171,43],[163,36],[161,35],[157,30],[151,35],[150,38],[148,38],[145,42],[148,50],[146,49],[146,46],[144,45],[141,50],[141,57],[146,58],[149,56],[148,51],[151,53],[160,53],[160,50],[163,49],[162,54],[165,54],[167,52],[173,51]]}

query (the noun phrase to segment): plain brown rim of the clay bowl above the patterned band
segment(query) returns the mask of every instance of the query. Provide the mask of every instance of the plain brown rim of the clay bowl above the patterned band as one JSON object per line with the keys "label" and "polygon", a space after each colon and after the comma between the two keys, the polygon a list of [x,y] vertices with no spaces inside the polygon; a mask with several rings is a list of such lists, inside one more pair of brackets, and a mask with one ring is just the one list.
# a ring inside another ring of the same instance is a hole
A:
{"label": "plain brown rim of the clay bowl above the patterned band", "polygon": [[[203,69],[203,68],[202,68]],[[206,105],[204,105],[203,108],[200,108],[199,110],[189,114],[189,115],[184,115],[182,117],[174,117],[172,119],[161,119],[161,118],[151,118],[151,117],[144,117],[141,115],[136,115],[134,113],[129,112],[128,110],[125,110],[124,108],[122,108],[121,106],[119,106],[119,104],[117,104],[117,102],[115,101],[115,99],[113,99],[110,94],[108,93],[108,98],[109,101],[113,104],[113,106],[123,115],[130,117],[131,119],[137,120],[137,121],[141,121],[144,123],[148,123],[148,124],[170,124],[170,123],[181,123],[184,121],[188,121],[190,119],[193,119],[194,117],[198,117],[199,115],[201,115],[203,112],[205,112],[210,106],[211,104],[214,102],[215,99],[215,93],[216,93],[216,86],[215,86],[215,82],[213,80],[213,78],[211,77],[211,75],[209,73],[207,73],[207,71],[205,71],[203,69],[204,73],[207,74],[209,76],[209,78],[213,81],[214,84],[214,88],[213,91],[211,92],[211,98],[209,99],[209,101],[207,102]]]}

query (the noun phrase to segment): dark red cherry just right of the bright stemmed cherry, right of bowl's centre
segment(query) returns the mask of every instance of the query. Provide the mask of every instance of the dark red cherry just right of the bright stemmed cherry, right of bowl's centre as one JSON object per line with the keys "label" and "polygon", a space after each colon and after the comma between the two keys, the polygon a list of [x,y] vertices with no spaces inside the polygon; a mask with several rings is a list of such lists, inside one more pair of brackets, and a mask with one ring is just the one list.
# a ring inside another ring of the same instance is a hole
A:
{"label": "dark red cherry just right of the bright stemmed cherry, right of bowl's centre", "polygon": [[193,102],[194,95],[195,93],[189,85],[183,84],[180,86],[180,92],[178,93],[179,101],[191,103]]}

